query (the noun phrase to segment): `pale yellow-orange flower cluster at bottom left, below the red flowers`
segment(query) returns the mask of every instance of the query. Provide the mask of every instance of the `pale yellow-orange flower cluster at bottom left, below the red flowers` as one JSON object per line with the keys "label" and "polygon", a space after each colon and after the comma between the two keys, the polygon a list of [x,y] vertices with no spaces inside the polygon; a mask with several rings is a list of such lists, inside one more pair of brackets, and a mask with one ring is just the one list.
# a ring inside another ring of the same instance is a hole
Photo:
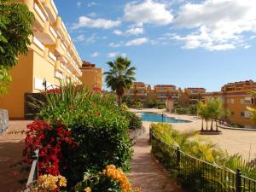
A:
{"label": "pale yellow-orange flower cluster at bottom left, below the red flowers", "polygon": [[35,183],[29,186],[32,192],[55,192],[67,187],[67,179],[61,175],[42,175]]}

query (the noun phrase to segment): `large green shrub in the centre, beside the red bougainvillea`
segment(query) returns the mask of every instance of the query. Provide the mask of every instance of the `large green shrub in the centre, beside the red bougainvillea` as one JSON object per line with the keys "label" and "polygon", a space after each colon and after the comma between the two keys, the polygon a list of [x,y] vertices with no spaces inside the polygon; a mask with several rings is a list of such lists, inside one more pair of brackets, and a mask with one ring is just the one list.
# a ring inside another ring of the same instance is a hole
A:
{"label": "large green shrub in the centre, beside the red bougainvillea", "polygon": [[67,125],[79,145],[63,152],[61,164],[66,169],[61,175],[67,177],[68,186],[81,181],[90,167],[102,170],[113,164],[125,172],[130,170],[130,119],[122,115],[113,96],[66,84],[45,97],[46,105],[34,104],[41,108],[38,118]]}

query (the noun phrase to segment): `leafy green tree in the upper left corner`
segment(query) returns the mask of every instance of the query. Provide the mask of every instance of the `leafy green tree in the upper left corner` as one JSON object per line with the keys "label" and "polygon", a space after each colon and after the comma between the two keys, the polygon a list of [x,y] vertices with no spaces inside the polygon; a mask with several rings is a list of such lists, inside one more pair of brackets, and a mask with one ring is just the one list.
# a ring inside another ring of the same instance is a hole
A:
{"label": "leafy green tree in the upper left corner", "polygon": [[0,96],[7,92],[14,67],[20,54],[26,55],[31,44],[34,16],[24,3],[0,0]]}

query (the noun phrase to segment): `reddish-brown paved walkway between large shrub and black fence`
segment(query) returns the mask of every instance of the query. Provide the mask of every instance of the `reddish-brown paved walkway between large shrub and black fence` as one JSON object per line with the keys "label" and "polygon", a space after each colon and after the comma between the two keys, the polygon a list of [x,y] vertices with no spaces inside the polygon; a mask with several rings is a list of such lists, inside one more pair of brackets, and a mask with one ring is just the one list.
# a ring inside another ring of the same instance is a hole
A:
{"label": "reddish-brown paved walkway between large shrub and black fence", "polygon": [[131,160],[131,179],[133,187],[141,187],[143,192],[182,192],[175,181],[168,177],[157,160],[151,155],[148,143],[149,130],[138,137]]}

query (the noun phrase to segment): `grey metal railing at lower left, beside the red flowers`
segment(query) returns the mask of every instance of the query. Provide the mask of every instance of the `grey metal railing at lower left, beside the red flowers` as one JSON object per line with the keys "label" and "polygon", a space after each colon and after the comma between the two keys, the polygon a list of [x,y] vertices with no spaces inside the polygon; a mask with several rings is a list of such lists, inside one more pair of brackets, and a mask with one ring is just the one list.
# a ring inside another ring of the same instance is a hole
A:
{"label": "grey metal railing at lower left, beside the red flowers", "polygon": [[30,185],[38,180],[38,154],[39,154],[39,149],[35,150],[33,153],[33,161],[32,161],[32,166],[31,170],[29,172],[29,176],[26,182],[26,190],[24,192],[29,192],[30,191]]}

